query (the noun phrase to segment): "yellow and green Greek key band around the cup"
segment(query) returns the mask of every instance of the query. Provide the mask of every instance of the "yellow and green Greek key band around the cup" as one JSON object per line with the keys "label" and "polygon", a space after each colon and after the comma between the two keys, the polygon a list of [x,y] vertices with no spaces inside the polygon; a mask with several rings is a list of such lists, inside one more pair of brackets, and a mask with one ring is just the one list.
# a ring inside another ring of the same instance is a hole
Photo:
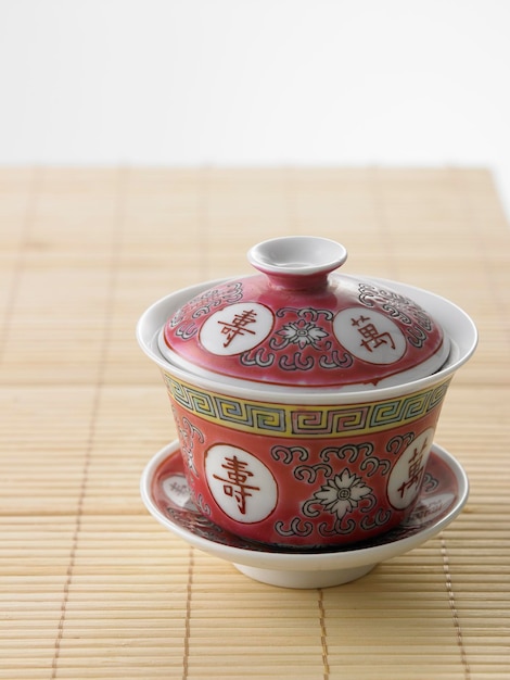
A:
{"label": "yellow and green Greek key band around the cup", "polygon": [[406,396],[349,406],[288,406],[204,392],[163,373],[169,396],[189,413],[237,430],[273,437],[353,437],[407,425],[441,405],[450,379]]}

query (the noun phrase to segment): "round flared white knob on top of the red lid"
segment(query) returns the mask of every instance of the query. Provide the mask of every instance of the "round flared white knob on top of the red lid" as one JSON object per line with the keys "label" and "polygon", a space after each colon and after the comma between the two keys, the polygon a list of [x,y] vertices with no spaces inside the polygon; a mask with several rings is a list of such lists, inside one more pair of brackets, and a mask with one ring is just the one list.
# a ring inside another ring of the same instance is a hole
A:
{"label": "round flared white knob on top of the red lid", "polygon": [[276,288],[324,287],[328,274],[347,260],[343,245],[315,236],[288,236],[263,241],[247,253],[248,262]]}

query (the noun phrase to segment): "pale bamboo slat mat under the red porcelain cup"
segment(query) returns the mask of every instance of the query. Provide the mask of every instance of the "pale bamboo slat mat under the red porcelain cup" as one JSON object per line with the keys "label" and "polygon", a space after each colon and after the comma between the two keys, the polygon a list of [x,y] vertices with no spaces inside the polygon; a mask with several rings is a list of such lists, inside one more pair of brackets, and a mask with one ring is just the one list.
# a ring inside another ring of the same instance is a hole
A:
{"label": "pale bamboo slat mat under the red porcelain cup", "polygon": [[[176,437],[135,326],[278,235],[475,319],[438,444],[471,495],[364,579],[295,591],[190,547],[139,496]],[[510,230],[484,169],[0,171],[0,678],[510,677]]]}

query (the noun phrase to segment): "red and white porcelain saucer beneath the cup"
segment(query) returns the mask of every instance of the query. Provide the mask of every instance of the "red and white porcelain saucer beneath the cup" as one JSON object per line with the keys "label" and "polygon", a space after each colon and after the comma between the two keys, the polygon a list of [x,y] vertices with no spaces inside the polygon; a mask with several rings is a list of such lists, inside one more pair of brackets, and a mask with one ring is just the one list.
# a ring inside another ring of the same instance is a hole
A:
{"label": "red and white porcelain saucer beneath the cup", "polygon": [[468,500],[468,477],[460,464],[434,444],[418,503],[406,522],[370,542],[323,551],[260,545],[225,531],[204,517],[190,499],[179,442],[160,451],[145,467],[141,495],[167,529],[246,576],[284,588],[327,588],[354,581],[384,559],[401,555],[438,533]]}

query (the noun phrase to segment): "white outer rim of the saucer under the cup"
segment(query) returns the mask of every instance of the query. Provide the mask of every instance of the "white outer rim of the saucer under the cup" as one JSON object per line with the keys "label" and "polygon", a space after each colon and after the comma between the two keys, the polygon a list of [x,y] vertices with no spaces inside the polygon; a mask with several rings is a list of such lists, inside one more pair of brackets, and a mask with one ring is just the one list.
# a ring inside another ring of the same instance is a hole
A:
{"label": "white outer rim of the saucer under the cup", "polygon": [[146,464],[140,479],[140,493],[142,501],[150,514],[166,529],[183,539],[187,543],[212,554],[227,562],[245,565],[263,569],[278,570],[331,570],[348,569],[369,564],[377,564],[390,559],[397,555],[407,553],[418,545],[430,540],[448,526],[462,511],[469,496],[469,479],[460,463],[443,446],[435,442],[431,448],[431,456],[438,456],[455,476],[458,486],[458,494],[451,507],[437,520],[433,520],[423,529],[418,530],[410,537],[403,537],[388,543],[366,546],[360,549],[348,549],[340,546],[339,551],[328,552],[279,552],[257,551],[254,549],[243,549],[225,543],[218,543],[212,539],[195,534],[193,531],[182,527],[180,524],[165,516],[152,498],[152,480],[155,471],[169,456],[179,452],[180,443],[174,440],[163,446]]}

